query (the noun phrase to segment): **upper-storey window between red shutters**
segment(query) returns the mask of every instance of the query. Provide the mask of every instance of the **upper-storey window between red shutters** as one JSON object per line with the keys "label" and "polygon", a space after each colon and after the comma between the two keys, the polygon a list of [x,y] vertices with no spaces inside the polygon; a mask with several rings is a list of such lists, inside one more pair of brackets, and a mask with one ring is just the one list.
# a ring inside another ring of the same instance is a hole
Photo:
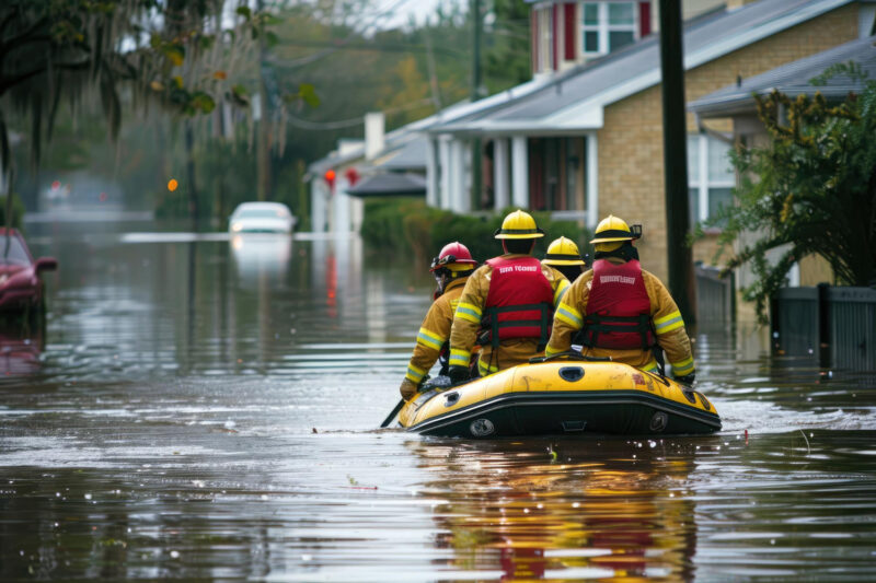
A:
{"label": "upper-storey window between red shutters", "polygon": [[635,2],[585,2],[581,13],[585,55],[604,55],[638,38]]}

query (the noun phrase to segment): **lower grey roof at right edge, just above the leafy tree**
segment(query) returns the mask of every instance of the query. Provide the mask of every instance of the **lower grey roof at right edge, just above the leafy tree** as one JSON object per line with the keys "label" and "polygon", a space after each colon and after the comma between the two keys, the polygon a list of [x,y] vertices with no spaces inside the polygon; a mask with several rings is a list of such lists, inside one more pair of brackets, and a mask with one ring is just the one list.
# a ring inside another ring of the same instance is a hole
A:
{"label": "lower grey roof at right edge, just above the leafy tree", "polygon": [[818,55],[777,67],[765,73],[750,77],[741,83],[726,86],[696,100],[688,109],[702,118],[729,117],[734,114],[754,110],[754,97],[768,95],[773,90],[789,97],[810,95],[820,92],[828,100],[843,100],[850,92],[861,91],[865,81],[852,79],[849,74],[835,74],[820,85],[810,80],[820,75],[833,65],[854,61],[861,66],[866,80],[876,80],[876,35],[858,38],[831,48]]}

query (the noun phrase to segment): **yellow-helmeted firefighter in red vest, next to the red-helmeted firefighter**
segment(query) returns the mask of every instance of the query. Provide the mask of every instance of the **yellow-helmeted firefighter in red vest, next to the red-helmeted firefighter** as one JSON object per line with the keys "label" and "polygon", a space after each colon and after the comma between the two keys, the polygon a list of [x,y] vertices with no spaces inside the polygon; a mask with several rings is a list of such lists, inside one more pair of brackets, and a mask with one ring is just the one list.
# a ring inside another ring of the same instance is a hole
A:
{"label": "yellow-helmeted firefighter in red vest, next to the red-helmeted firefighter", "polygon": [[495,238],[504,255],[479,267],[462,290],[450,330],[450,378],[469,377],[468,363],[481,345],[481,376],[527,362],[544,350],[551,336],[553,310],[568,281],[532,257],[544,231],[528,213],[508,214]]}

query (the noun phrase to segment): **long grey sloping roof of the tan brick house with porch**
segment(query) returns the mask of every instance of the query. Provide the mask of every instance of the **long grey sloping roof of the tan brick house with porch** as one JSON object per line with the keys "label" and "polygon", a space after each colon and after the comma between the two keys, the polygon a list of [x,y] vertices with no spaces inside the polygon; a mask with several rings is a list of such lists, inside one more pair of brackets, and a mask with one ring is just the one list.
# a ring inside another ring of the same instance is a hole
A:
{"label": "long grey sloping roof of the tan brick house with porch", "polygon": [[[809,21],[853,0],[761,0],[717,11],[684,26],[684,69]],[[431,132],[526,132],[602,127],[604,106],[660,82],[659,36],[642,40],[553,78],[545,86],[450,123]]]}

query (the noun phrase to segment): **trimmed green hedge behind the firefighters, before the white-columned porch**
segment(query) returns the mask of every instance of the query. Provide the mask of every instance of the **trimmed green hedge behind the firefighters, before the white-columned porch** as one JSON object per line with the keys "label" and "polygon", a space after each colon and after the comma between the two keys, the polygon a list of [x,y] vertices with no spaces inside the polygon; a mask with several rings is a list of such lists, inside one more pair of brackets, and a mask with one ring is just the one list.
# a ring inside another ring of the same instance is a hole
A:
{"label": "trimmed green hedge behind the firefighters, before the white-columned porch", "polygon": [[[479,261],[502,254],[502,244],[493,236],[505,215],[516,209],[488,217],[456,214],[426,206],[423,199],[369,199],[365,206],[361,235],[372,249],[410,249],[420,265],[428,263],[447,243],[459,241]],[[553,221],[550,212],[531,212],[545,236],[535,244],[535,256],[543,257],[548,245],[560,236],[578,244],[580,252],[590,253],[589,231],[576,221]]]}

